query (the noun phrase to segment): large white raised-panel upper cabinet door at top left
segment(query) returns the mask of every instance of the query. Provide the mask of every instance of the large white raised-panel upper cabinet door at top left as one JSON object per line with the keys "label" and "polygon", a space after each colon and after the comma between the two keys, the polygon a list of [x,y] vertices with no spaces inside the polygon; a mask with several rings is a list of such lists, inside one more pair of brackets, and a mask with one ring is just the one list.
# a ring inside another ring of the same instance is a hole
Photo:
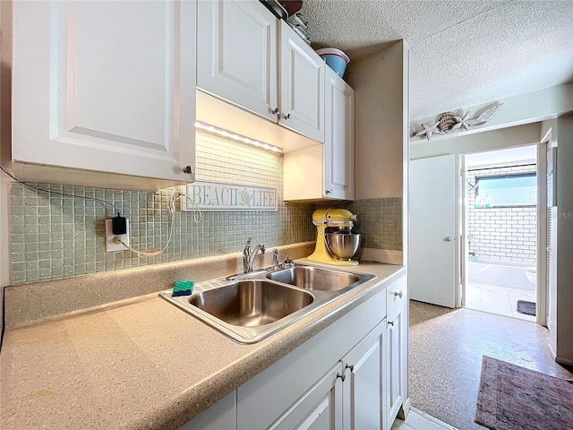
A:
{"label": "large white raised-panel upper cabinet door at top left", "polygon": [[14,2],[13,159],[191,182],[195,25],[194,1]]}

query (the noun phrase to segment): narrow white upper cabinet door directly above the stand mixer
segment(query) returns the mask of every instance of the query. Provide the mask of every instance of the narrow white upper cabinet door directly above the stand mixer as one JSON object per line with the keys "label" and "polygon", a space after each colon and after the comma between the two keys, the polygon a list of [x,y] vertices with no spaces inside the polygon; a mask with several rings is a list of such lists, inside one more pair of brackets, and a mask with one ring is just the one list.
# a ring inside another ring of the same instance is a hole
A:
{"label": "narrow white upper cabinet door directly above the stand mixer", "polygon": [[324,196],[355,199],[355,90],[326,67]]}

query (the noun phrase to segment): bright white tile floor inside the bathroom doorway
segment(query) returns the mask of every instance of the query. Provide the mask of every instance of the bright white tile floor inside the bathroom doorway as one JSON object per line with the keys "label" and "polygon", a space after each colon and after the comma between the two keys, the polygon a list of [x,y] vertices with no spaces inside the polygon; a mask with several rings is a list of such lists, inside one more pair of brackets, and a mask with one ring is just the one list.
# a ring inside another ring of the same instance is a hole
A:
{"label": "bright white tile floor inside the bathroom doorway", "polygon": [[535,323],[534,315],[517,312],[517,300],[535,302],[535,291],[471,282],[466,287],[466,307]]}

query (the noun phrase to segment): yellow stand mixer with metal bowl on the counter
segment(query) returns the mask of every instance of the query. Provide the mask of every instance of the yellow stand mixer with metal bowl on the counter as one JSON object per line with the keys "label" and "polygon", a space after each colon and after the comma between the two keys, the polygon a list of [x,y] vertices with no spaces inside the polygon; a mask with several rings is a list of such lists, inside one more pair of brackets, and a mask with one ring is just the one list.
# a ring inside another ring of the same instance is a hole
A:
{"label": "yellow stand mixer with metal bowl on the counter", "polygon": [[[346,209],[317,209],[312,212],[312,224],[316,226],[318,234],[316,247],[308,259],[338,266],[358,265],[356,260],[351,260],[360,245],[360,235],[351,234],[356,219],[358,217]],[[342,239],[337,240],[337,245],[343,242],[349,248],[343,250],[335,244],[329,244],[329,236]]]}

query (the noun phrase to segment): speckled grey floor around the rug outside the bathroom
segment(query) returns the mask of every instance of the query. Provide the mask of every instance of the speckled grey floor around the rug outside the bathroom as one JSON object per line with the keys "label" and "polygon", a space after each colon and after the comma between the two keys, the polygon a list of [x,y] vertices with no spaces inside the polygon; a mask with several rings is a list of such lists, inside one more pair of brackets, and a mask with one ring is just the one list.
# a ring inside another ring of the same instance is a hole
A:
{"label": "speckled grey floor around the rug outside the bathroom", "polygon": [[410,301],[408,382],[413,408],[461,430],[483,430],[474,418],[484,355],[573,378],[573,368],[553,360],[545,327]]}

